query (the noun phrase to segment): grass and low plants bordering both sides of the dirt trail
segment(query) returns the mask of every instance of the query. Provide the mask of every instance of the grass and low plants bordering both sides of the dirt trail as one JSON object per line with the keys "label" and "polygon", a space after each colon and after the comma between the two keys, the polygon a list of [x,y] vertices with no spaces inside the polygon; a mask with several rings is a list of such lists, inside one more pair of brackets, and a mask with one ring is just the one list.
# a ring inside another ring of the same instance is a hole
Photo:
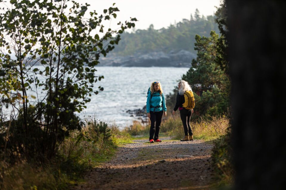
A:
{"label": "grass and low plants bordering both sides of the dirt trail", "polygon": [[[18,155],[18,160],[13,165],[1,161],[1,189],[66,189],[77,186],[84,182],[85,172],[111,159],[116,154],[117,147],[133,143],[132,140],[136,139],[146,139],[147,142],[150,128],[149,124],[133,121],[133,125],[120,131],[91,116],[85,118],[84,122],[82,130],[71,132],[59,146],[56,158],[45,164],[27,162],[21,155]],[[201,119],[192,122],[191,126],[195,140],[201,139],[215,145],[212,165],[217,175],[216,183],[230,184],[232,175],[229,173],[229,154],[226,153],[226,146],[223,146],[229,130],[226,115]],[[170,136],[173,140],[183,137],[184,130],[179,116],[165,119],[159,135]]]}

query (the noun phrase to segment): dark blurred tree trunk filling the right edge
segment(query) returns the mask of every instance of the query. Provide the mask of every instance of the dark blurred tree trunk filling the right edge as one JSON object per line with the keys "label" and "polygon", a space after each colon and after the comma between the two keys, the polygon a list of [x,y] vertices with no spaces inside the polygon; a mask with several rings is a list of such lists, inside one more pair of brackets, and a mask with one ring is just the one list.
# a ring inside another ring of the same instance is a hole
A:
{"label": "dark blurred tree trunk filling the right edge", "polygon": [[286,2],[226,3],[235,189],[284,189]]}

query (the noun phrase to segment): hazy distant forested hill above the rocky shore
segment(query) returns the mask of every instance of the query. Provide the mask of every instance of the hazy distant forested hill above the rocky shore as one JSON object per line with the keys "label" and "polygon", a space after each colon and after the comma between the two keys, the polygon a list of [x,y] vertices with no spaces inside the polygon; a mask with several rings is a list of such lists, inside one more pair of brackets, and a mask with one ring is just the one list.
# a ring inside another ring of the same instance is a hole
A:
{"label": "hazy distant forested hill above the rocky shore", "polygon": [[151,51],[167,53],[182,49],[196,53],[194,50],[196,34],[208,36],[211,30],[219,32],[215,19],[215,15],[200,16],[199,10],[196,9],[195,15],[191,14],[190,20],[183,19],[178,23],[170,24],[168,28],[156,30],[151,24],[146,30],[124,32],[113,52],[123,56]]}

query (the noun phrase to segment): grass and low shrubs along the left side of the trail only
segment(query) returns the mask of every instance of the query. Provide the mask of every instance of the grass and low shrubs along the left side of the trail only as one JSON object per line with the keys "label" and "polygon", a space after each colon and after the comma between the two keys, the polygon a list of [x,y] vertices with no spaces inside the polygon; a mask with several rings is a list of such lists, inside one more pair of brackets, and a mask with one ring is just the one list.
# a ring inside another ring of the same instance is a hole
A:
{"label": "grass and low shrubs along the left side of the trail only", "polygon": [[130,134],[87,120],[81,131],[64,139],[53,160],[27,163],[19,156],[14,163],[0,161],[0,189],[69,189],[83,183],[84,172],[111,159],[124,143],[132,143]]}

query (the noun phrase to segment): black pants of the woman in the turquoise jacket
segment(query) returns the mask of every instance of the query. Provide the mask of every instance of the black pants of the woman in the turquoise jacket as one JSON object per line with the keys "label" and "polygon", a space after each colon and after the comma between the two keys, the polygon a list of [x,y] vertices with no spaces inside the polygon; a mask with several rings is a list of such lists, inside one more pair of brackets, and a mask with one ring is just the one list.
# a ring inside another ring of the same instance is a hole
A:
{"label": "black pants of the woman in the turquoise jacket", "polygon": [[151,126],[150,126],[149,140],[151,139],[157,140],[159,138],[159,131],[160,131],[160,125],[162,121],[162,116],[163,116],[163,110],[160,112],[150,111]]}

